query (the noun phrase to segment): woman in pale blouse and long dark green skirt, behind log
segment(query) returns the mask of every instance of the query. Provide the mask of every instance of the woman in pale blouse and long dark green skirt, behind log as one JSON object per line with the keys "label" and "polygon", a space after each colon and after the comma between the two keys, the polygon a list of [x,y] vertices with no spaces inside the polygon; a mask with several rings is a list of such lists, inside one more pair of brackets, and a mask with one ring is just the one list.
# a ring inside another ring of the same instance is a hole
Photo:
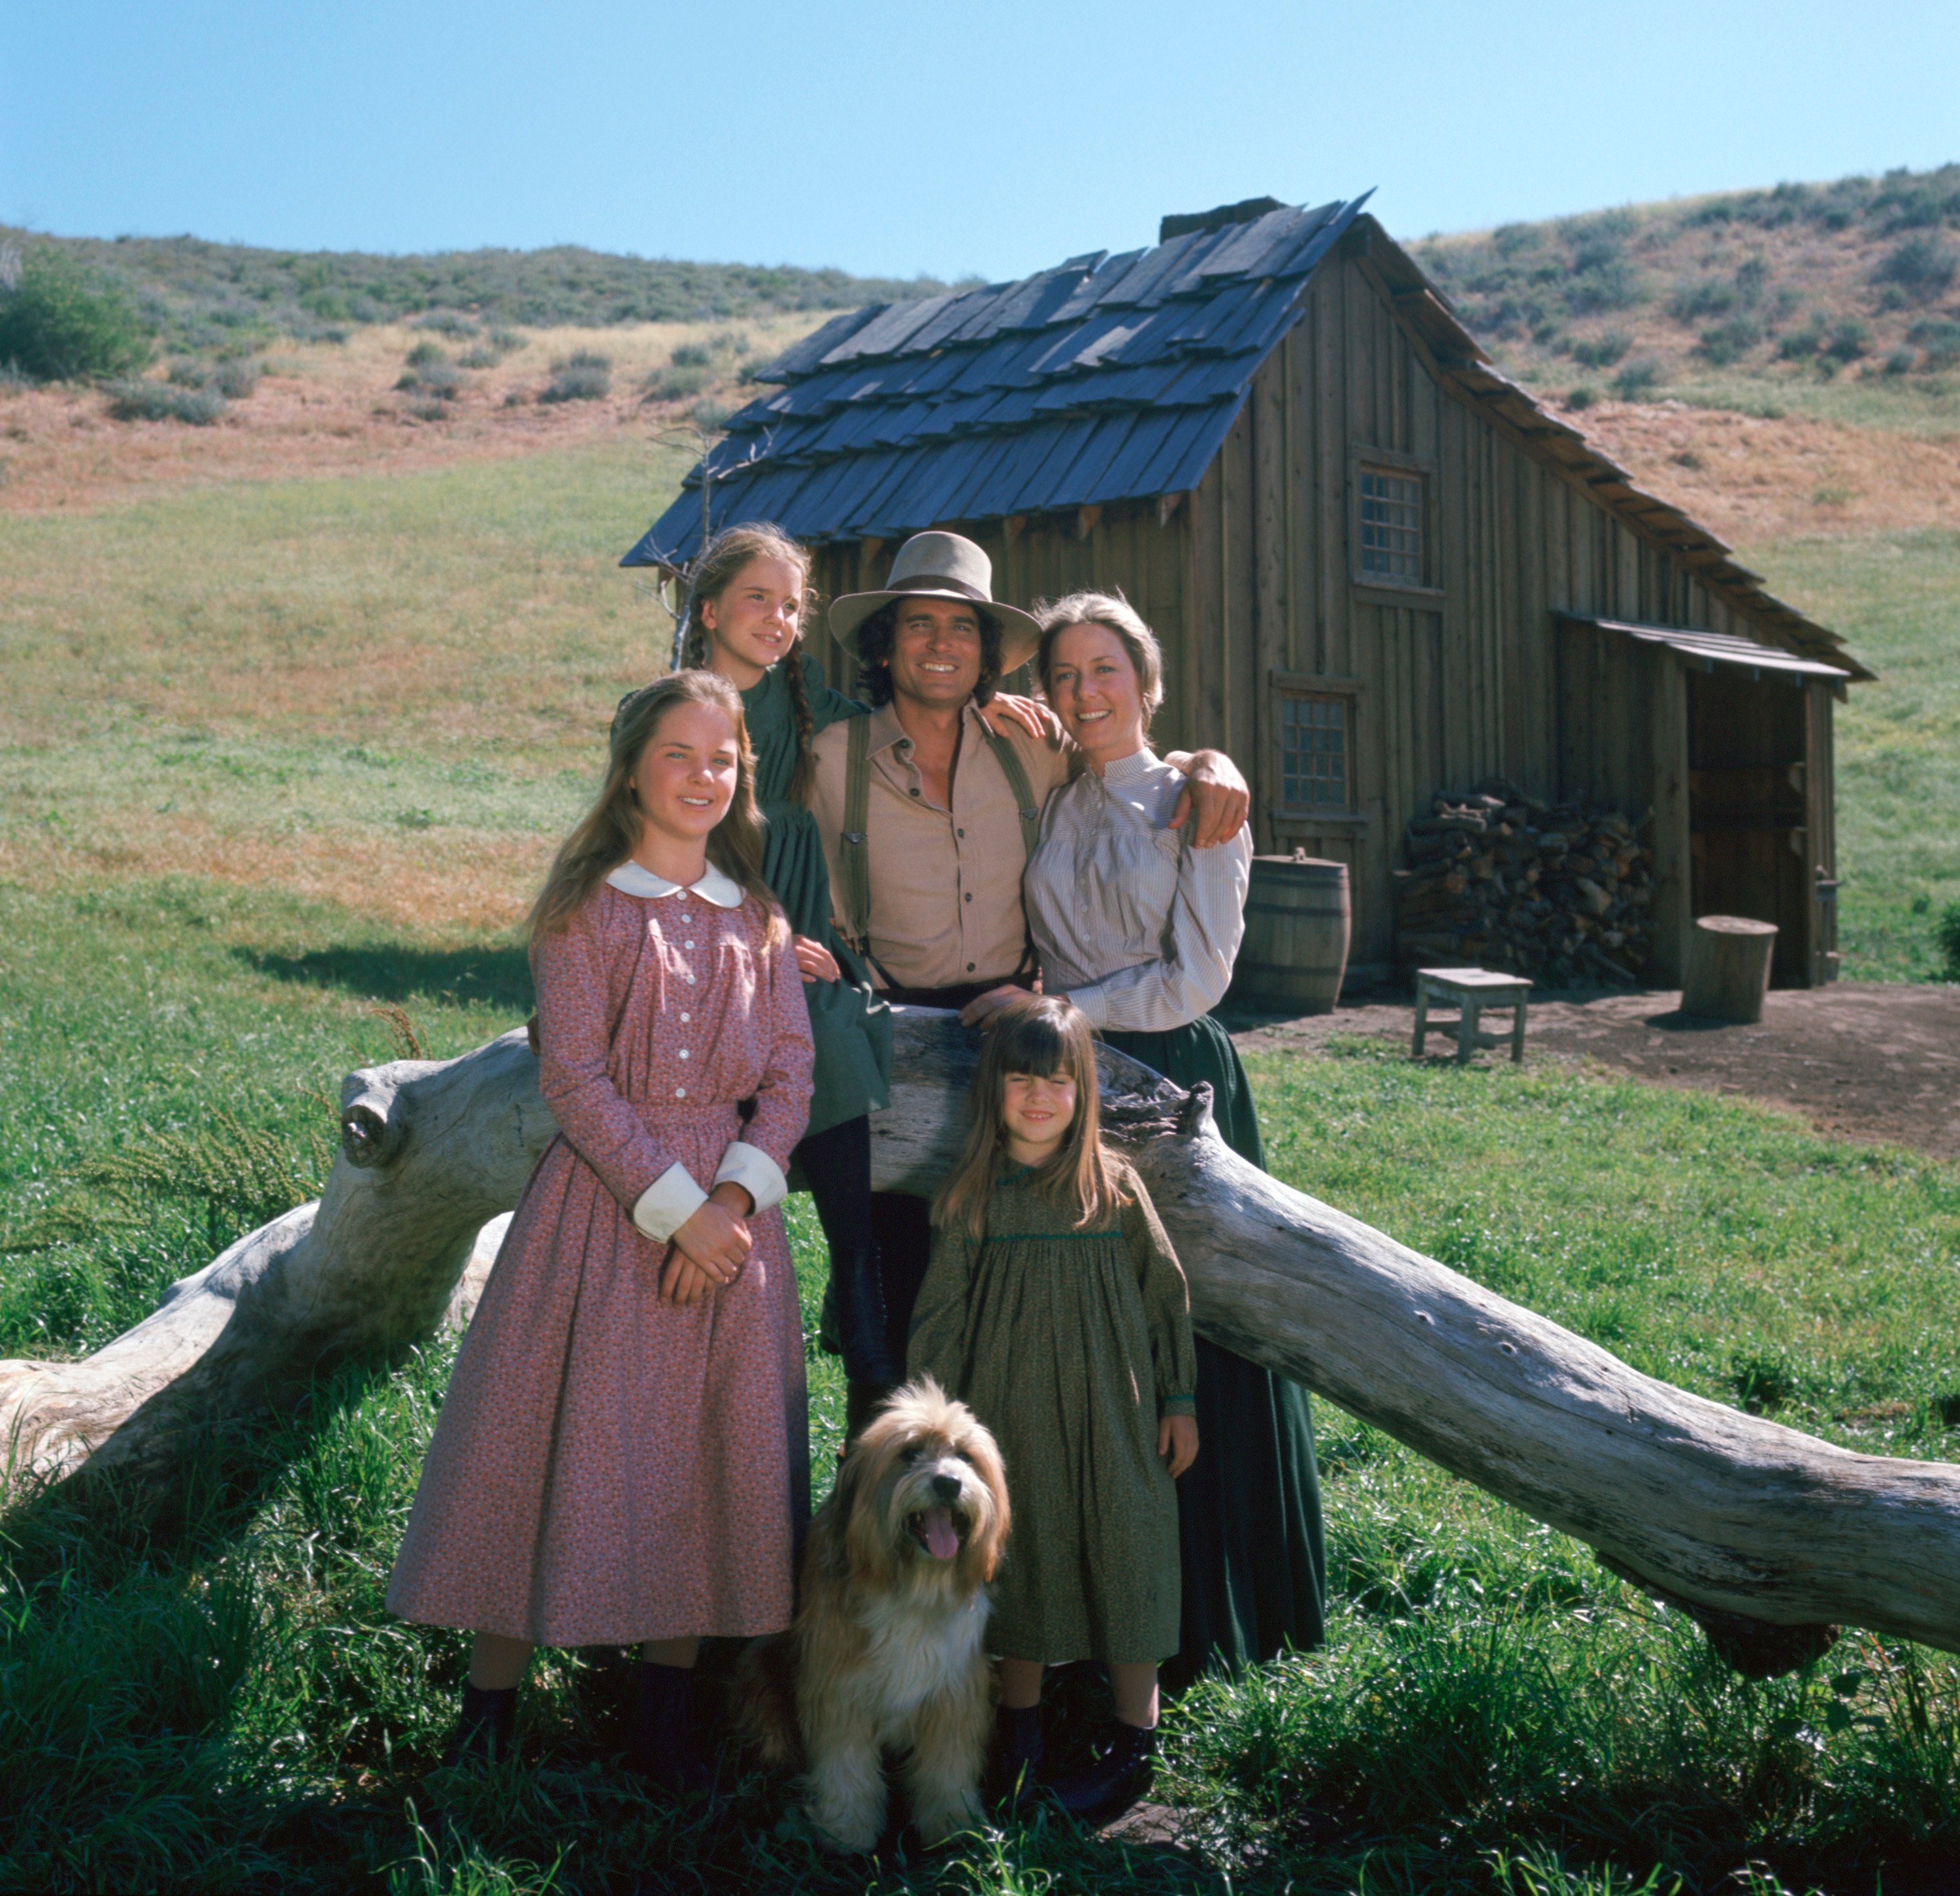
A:
{"label": "woman in pale blouse and long dark green skirt, behind log", "polygon": [[[1245,1067],[1211,1018],[1245,933],[1250,831],[1194,849],[1188,829],[1164,827],[1184,776],[1149,747],[1164,663],[1137,610],[1078,592],[1037,616],[1041,684],[1084,765],[1049,798],[1023,884],[1043,988],[1180,1086],[1209,1080],[1225,1143],[1264,1165]],[[984,994],[962,1018],[1017,992]],[[1237,1671],[1323,1635],[1307,1392],[1200,1337],[1198,1439],[1203,1451],[1178,1482],[1184,1641],[1164,1667],[1170,1688],[1207,1663]]]}

